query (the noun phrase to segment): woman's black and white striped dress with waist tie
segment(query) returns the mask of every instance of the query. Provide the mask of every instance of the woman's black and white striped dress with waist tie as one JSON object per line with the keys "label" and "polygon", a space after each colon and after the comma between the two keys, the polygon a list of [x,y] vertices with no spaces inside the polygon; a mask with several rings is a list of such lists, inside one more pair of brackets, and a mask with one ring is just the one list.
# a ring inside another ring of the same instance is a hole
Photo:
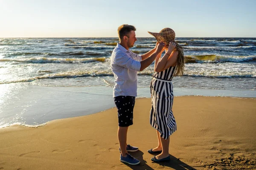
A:
{"label": "woman's black and white striped dress with waist tie", "polygon": [[163,139],[177,130],[176,121],[172,113],[173,91],[172,78],[175,67],[167,68],[161,72],[154,72],[150,84],[151,111],[150,124],[160,132]]}

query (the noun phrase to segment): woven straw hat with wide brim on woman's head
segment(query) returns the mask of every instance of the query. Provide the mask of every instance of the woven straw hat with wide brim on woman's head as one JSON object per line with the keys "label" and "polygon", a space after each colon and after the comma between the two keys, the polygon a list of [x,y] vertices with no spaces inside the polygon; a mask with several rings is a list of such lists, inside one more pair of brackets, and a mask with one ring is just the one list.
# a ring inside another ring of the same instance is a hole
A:
{"label": "woven straw hat with wide brim on woman's head", "polygon": [[[175,32],[171,28],[163,28],[159,33],[149,31],[148,33],[153,35],[157,39],[157,42],[164,42],[166,47],[169,46],[171,41],[175,42]],[[180,46],[177,42],[175,43],[177,46]]]}

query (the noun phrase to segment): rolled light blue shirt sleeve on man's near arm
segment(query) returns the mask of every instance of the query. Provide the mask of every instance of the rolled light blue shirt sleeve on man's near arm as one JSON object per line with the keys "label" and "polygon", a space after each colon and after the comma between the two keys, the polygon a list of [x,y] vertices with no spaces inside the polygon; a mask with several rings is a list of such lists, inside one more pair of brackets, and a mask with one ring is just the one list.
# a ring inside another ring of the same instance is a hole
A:
{"label": "rolled light blue shirt sleeve on man's near arm", "polygon": [[121,57],[116,57],[116,64],[130,70],[140,71],[140,62],[132,59],[128,55],[124,54]]}

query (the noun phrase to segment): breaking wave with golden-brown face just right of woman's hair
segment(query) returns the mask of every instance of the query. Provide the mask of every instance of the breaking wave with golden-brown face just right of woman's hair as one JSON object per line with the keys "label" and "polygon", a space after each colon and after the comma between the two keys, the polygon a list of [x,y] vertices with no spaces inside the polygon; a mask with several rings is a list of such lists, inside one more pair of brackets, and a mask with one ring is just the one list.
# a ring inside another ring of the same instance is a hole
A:
{"label": "breaking wave with golden-brown face just right of woman's hair", "polygon": [[256,60],[256,56],[216,56],[216,55],[198,55],[185,56],[186,63],[203,62],[247,62]]}

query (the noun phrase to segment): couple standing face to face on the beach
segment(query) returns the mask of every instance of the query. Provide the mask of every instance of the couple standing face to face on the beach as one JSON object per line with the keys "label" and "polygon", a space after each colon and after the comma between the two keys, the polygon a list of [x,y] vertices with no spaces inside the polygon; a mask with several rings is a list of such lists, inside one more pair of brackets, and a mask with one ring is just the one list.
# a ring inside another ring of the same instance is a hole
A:
{"label": "couple standing face to face on the beach", "polygon": [[[152,161],[168,161],[169,136],[176,130],[172,113],[172,78],[184,71],[183,48],[175,42],[175,32],[164,28],[160,33],[151,33],[157,39],[156,46],[143,55],[133,53],[129,48],[137,41],[136,28],[124,24],[118,28],[119,43],[111,55],[111,69],[115,77],[113,97],[118,110],[118,140],[120,161],[136,165],[138,159],[128,154],[139,150],[126,143],[128,127],[133,124],[133,109],[137,96],[137,71],[143,71],[154,60],[154,74],[151,81],[152,106],[150,124],[157,131],[158,146],[148,153],[160,153]],[[162,52],[165,51],[161,58]]]}

